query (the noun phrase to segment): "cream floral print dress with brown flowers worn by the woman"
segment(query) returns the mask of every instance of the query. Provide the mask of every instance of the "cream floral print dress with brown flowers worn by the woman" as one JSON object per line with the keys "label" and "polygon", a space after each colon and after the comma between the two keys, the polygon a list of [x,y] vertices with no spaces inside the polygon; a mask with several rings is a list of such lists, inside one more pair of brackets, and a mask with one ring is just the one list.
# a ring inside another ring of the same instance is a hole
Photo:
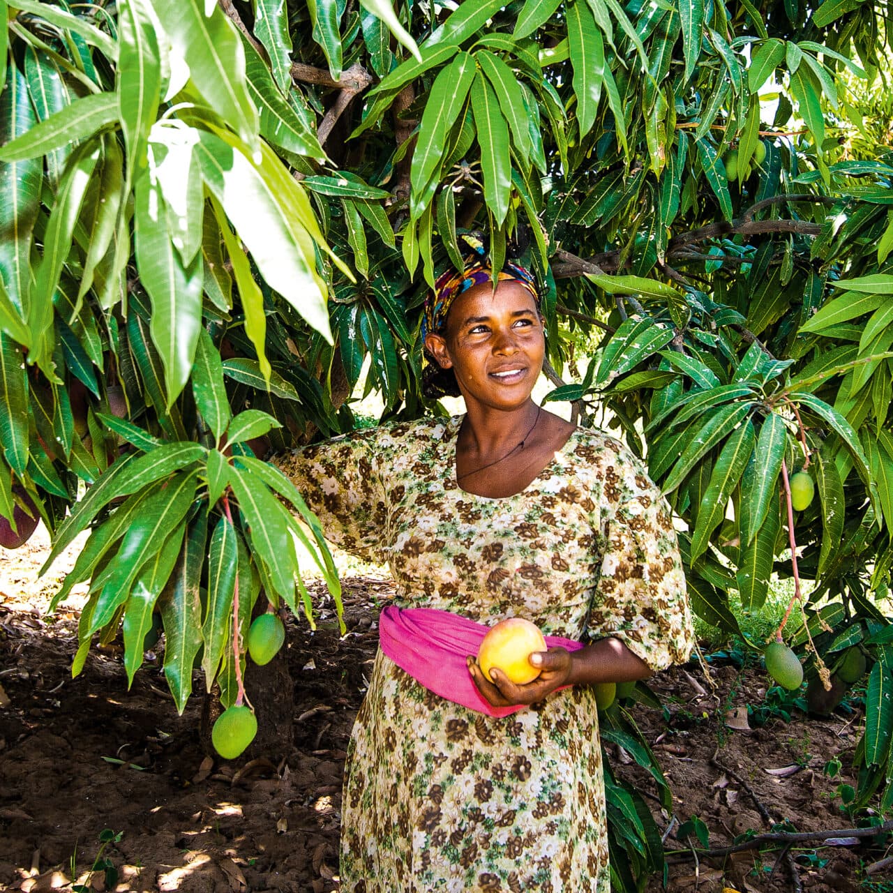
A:
{"label": "cream floral print dress with brown flowers worn by the woman", "polygon": [[[692,645],[670,509],[642,463],[575,430],[521,493],[455,480],[461,418],[361,430],[276,461],[330,540],[388,563],[400,607],[620,638],[654,670]],[[505,718],[432,694],[379,651],[347,755],[341,889],[610,888],[595,697]]]}

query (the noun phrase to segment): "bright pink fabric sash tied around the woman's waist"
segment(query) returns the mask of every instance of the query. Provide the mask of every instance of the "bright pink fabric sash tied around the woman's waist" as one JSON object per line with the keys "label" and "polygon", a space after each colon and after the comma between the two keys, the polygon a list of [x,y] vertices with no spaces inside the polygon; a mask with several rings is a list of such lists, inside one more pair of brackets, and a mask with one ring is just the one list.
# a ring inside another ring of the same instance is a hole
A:
{"label": "bright pink fabric sash tied around the woman's waist", "polygon": [[[477,655],[488,626],[435,608],[388,605],[379,620],[381,650],[426,689],[488,716],[516,714],[526,705],[494,707],[480,694],[465,658]],[[547,647],[576,651],[582,642],[547,636]]]}

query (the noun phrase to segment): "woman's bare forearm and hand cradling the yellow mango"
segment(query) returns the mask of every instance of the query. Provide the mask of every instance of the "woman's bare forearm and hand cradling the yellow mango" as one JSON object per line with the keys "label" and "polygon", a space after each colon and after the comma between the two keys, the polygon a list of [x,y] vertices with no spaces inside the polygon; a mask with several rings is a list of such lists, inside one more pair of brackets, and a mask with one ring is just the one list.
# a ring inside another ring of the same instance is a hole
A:
{"label": "woman's bare forearm and hand cradling the yellow mango", "polygon": [[634,655],[619,638],[603,638],[577,651],[560,647],[535,651],[528,659],[540,673],[527,685],[515,685],[496,667],[490,670],[495,680],[495,683],[491,682],[473,657],[468,658],[468,672],[480,693],[494,707],[535,704],[555,689],[568,685],[629,682],[651,675],[648,664]]}

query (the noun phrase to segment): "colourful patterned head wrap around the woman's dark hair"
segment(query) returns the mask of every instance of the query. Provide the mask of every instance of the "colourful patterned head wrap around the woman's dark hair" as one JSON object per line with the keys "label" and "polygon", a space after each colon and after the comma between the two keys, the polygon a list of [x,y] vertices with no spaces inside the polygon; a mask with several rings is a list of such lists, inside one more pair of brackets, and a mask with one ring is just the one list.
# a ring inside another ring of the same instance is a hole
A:
{"label": "colourful patterned head wrap around the woman's dark hair", "polygon": [[506,261],[502,270],[494,277],[480,238],[471,233],[463,233],[459,240],[464,246],[472,249],[472,253],[465,258],[462,271],[448,269],[434,284],[434,290],[425,298],[425,312],[421,317],[421,375],[426,396],[458,396],[453,371],[440,368],[425,347],[425,338],[429,332],[443,330],[450,307],[463,292],[494,279],[497,282],[514,281],[530,292],[539,309],[539,292],[530,271],[517,263]]}

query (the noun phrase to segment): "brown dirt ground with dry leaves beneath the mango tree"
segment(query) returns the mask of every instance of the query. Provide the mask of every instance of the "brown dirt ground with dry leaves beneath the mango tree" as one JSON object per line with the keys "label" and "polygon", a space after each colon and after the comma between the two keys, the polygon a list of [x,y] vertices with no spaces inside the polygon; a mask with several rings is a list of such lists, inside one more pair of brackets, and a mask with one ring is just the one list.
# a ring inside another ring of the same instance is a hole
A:
{"label": "brown dirt ground with dry leaves beneath the mango tree", "polygon": [[[84,672],[71,679],[78,613],[63,606],[46,616],[66,563],[38,580],[45,557],[46,535],[15,552],[0,550],[0,890],[337,890],[345,750],[387,581],[345,580],[344,638],[321,594],[315,633],[303,620],[289,622],[295,747],[228,764],[201,747],[200,678],[178,716],[161,654],[147,653],[129,691],[114,647],[93,648]],[[839,786],[855,785],[848,767],[863,722],[856,702],[824,721],[795,709],[790,722],[770,716],[760,727],[732,730],[727,719],[747,717],[747,705],[772,713],[767,679],[722,655],[709,675],[698,663],[663,673],[652,680],[663,710],[632,708],[671,780],[672,815],[660,811],[650,778],[611,751],[617,771],[653,805],[666,849],[680,854],[670,856],[668,889],[893,890],[893,872],[859,886],[864,866],[890,855],[890,837],[835,835],[797,844],[784,858],[777,851],[692,857],[687,840],[677,839],[692,816],[713,848],[774,822],[797,831],[849,827]],[[835,758],[843,768],[831,779],[824,769]],[[660,889],[660,878],[647,888]]]}

